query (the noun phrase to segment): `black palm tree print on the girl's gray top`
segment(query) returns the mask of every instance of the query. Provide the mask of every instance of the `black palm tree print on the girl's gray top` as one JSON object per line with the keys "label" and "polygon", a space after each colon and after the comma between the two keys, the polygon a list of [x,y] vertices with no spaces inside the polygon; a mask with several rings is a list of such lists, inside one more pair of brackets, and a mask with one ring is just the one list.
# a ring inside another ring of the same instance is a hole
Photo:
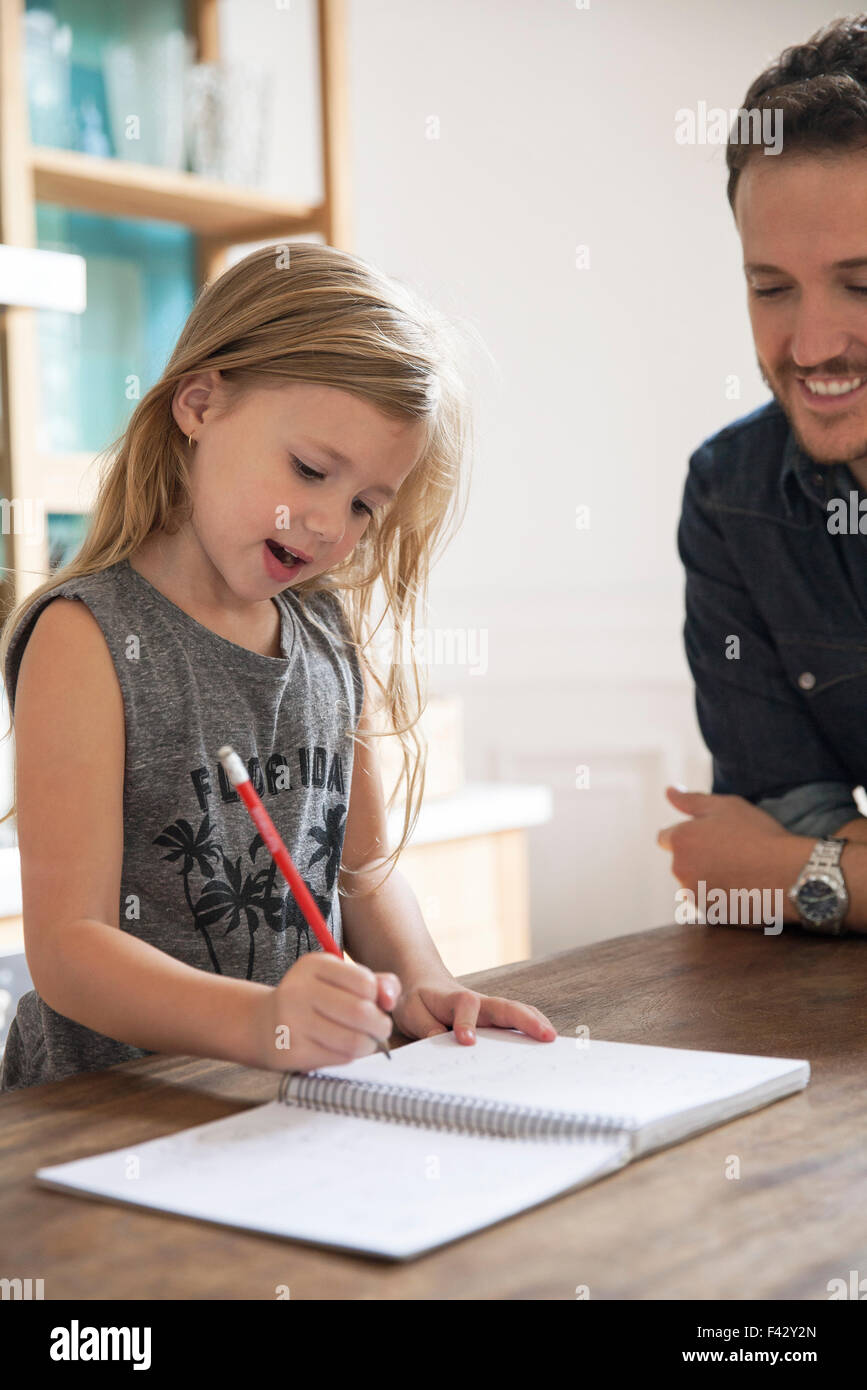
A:
{"label": "black palm tree print on the girl's gray top", "polygon": [[[346,806],[343,803],[338,803],[328,810],[324,809],[321,823],[311,826],[307,831],[318,848],[306,865],[304,881],[325,922],[329,922],[333,913],[333,884],[340,866]],[[183,878],[183,897],[193,917],[195,929],[204,938],[211,965],[217,974],[222,974],[224,972],[214,949],[211,930],[224,922],[226,923],[224,935],[235,931],[242,922],[246,923],[250,937],[247,980],[253,979],[256,931],[258,930],[260,915],[272,931],[281,933],[295,927],[299,955],[302,952],[302,933],[306,938],[307,951],[320,949],[318,942],[311,941],[307,920],[293,894],[288,888],[283,894],[276,892],[275,878],[278,870],[274,859],[268,856],[268,865],[256,873],[243,873],[240,867],[242,856],[239,855],[235,860],[231,860],[224,853],[220,842],[214,840],[207,812],[197,831],[193,831],[189,820],[178,817],[153,842],[168,849],[168,853],[163,855],[163,859],[170,862],[182,860],[178,873]],[[251,865],[256,863],[256,856],[263,848],[264,841],[257,831],[247,851]],[[322,862],[325,892],[317,892],[308,881],[308,873],[314,865]],[[218,865],[222,865],[222,877],[218,877]],[[207,883],[193,901],[190,876],[196,869]]]}

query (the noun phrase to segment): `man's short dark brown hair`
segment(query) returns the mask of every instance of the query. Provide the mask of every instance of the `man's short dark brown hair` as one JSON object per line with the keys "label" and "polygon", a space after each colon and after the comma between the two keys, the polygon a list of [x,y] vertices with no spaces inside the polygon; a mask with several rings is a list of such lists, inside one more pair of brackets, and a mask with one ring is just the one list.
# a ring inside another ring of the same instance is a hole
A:
{"label": "man's short dark brown hair", "polygon": [[[782,157],[867,149],[867,14],[834,19],[784,49],[752,83],[743,108],[782,111]],[[725,149],[732,211],[741,171],[750,158],[766,158],[763,145],[738,139],[738,125]]]}

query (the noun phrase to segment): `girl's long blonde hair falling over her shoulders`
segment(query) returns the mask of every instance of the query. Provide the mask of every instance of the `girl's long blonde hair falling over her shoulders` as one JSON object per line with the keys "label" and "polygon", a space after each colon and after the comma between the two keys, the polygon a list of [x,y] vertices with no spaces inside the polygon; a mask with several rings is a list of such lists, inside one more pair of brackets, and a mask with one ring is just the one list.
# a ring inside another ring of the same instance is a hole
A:
{"label": "girl's long blonde hair falling over her shoulders", "polygon": [[[13,632],[43,594],[106,570],[151,532],[174,534],[192,516],[189,445],[172,416],[172,399],[185,377],[218,368],[226,409],[246,389],[297,381],[352,392],[403,423],[422,421],[424,452],[396,499],[374,514],[346,560],[293,587],[303,607],[307,592],[328,588],[346,595],[352,645],[383,696],[381,708],[390,724],[377,737],[393,733],[400,741],[403,770],[388,805],[403,785],[403,833],[392,853],[382,856],[382,866],[393,867],[418,819],[427,763],[427,744],[415,728],[427,705],[427,680],[420,680],[413,641],[404,663],[404,637],[414,631],[417,606],[427,605],[436,548],[452,539],[463,520],[467,498],[461,503],[460,482],[468,480],[472,461],[470,392],[459,348],[453,321],[403,284],[332,246],[267,246],[224,271],[199,293],[160,381],[142,398],[119,439],[99,456],[108,464],[78,553],[7,617],[0,670],[6,670]],[[377,582],[386,606],[370,631]],[[365,648],[386,612],[393,624],[392,659],[382,681]],[[11,728],[10,720],[4,737]],[[364,742],[363,735],[357,738]],[[15,805],[17,787],[3,820]]]}

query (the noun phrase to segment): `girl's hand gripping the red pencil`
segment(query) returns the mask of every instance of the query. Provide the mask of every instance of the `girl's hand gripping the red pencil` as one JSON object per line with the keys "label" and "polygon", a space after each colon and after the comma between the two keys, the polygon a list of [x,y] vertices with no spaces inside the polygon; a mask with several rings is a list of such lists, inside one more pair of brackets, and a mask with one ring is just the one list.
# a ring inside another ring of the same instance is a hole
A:
{"label": "girl's hand gripping the red pencil", "polygon": [[385,1011],[399,990],[390,973],[374,974],[354,960],[308,951],[263,995],[261,1065],[271,1072],[310,1072],[368,1056],[377,1051],[375,1038],[390,1037]]}

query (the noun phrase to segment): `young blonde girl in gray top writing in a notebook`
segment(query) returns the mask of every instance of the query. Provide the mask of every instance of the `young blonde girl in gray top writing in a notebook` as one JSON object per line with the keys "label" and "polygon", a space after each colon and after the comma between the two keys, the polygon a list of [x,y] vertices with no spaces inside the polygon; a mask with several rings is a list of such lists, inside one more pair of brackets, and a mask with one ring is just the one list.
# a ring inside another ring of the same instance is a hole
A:
{"label": "young blonde girl in gray top writing in a notebook", "polygon": [[[0,1090],[149,1052],[308,1070],[392,1020],[556,1036],[436,952],[395,869],[424,790],[418,673],[413,706],[402,660],[383,684],[361,656],[374,585],[395,651],[411,631],[457,496],[470,417],[446,328],[332,247],[253,252],[199,296],[76,557],[7,620],[35,990]],[[407,788],[392,855],[374,685]],[[311,940],[224,744],[352,960]]]}

